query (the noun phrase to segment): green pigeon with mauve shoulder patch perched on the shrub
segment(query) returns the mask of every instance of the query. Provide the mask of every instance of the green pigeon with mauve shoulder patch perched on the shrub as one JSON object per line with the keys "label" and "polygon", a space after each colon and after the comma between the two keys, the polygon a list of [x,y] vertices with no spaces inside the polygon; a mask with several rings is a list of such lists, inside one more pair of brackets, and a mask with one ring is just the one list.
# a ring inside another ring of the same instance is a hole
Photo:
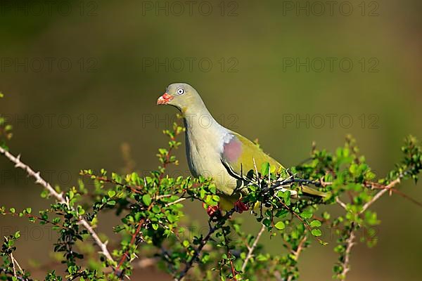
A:
{"label": "green pigeon with mauve shoulder patch perched on the shrub", "polygon": [[[157,105],[172,105],[181,112],[185,126],[186,159],[194,177],[212,178],[219,191],[218,209],[236,207],[242,212],[248,209],[241,197],[248,192],[246,185],[256,180],[253,171],[269,163],[271,173],[284,168],[258,145],[240,133],[219,124],[205,106],[203,99],[193,86],[174,83],[167,86]],[[295,190],[291,190],[296,194]],[[302,186],[304,195],[326,197],[326,193]],[[208,207],[211,216],[216,208]]]}

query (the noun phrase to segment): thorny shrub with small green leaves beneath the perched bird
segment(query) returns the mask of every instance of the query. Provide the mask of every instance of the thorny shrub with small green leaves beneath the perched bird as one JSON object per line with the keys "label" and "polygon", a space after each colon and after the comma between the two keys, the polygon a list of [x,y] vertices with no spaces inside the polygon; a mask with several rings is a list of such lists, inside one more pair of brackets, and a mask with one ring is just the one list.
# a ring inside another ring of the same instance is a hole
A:
{"label": "thorny shrub with small green leaves beneath the perched bird", "polygon": [[[120,175],[103,169],[84,169],[79,185],[65,190],[53,188],[19,156],[8,152],[6,142],[11,138],[11,126],[4,119],[0,119],[0,126],[0,152],[43,187],[41,197],[55,201],[39,214],[32,214],[30,207],[20,211],[1,207],[0,213],[47,224],[56,230],[58,240],[53,250],[61,254],[68,280],[121,280],[132,275],[136,259],[156,263],[174,280],[187,276],[189,280],[297,280],[302,251],[312,242],[327,244],[321,238],[323,226],[335,230],[334,251],[339,258],[333,266],[333,278],[344,280],[357,231],[369,233],[362,237],[369,246],[376,243],[373,226],[380,221],[370,209],[373,202],[387,193],[405,196],[397,185],[407,179],[417,181],[422,169],[421,148],[409,136],[402,147],[401,162],[385,177],[376,178],[365,157],[359,155],[354,139],[348,136],[335,153],[312,148],[309,161],[281,174],[272,174],[268,164],[252,171],[258,180],[248,186],[249,194],[243,202],[251,209],[259,206],[250,214],[250,219],[255,218],[262,225],[257,235],[242,230],[235,208],[215,212],[208,219],[204,234],[196,223],[184,219],[182,202],[201,202],[205,208],[216,206],[219,193],[209,178],[174,178],[166,174],[169,165],[178,164],[172,155],[181,145],[178,137],[184,132],[178,124],[164,131],[169,146],[158,150],[160,166],[156,171],[148,175]],[[87,181],[92,181],[94,187],[87,188]],[[304,184],[328,192],[329,196],[324,200],[301,196],[300,185]],[[292,197],[286,188],[296,190],[299,197]],[[343,214],[333,216],[319,211],[321,206],[328,210],[340,206]],[[120,218],[120,224],[113,229],[120,233],[120,242],[108,242],[107,237],[96,233],[98,214],[105,211],[113,211]],[[265,251],[260,244],[263,235],[280,236],[286,253],[272,255]],[[15,233],[4,237],[1,280],[32,280],[13,256],[19,236]],[[89,251],[92,242],[98,254]],[[45,279],[62,277],[53,270]]]}

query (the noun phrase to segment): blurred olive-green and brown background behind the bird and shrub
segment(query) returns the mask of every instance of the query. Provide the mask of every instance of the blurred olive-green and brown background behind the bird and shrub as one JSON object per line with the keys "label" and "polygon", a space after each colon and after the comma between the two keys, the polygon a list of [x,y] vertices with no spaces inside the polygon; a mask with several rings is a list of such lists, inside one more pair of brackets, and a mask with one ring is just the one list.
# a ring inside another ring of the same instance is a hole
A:
{"label": "blurred olive-green and brown background behind the bird and shrub", "polygon": [[[155,102],[177,81],[286,166],[309,157],[312,141],[334,150],[351,133],[382,176],[400,159],[405,136],[422,138],[421,1],[201,3],[1,1],[0,108],[14,126],[11,152],[63,188],[77,183],[79,169],[122,172],[122,147],[134,171],[155,169],[155,151],[167,142],[162,129],[176,113]],[[177,155],[173,172],[186,174],[184,150]],[[4,157],[0,171],[0,205],[47,206],[39,186]],[[421,201],[421,187],[407,182],[402,190]],[[199,205],[186,208],[204,222]],[[348,280],[420,280],[422,209],[394,196],[374,209],[378,245],[356,247]],[[0,218],[1,236],[18,229],[18,260],[47,261],[51,230]],[[304,252],[301,280],[331,279],[337,256],[327,239]],[[137,274],[166,278],[153,268]]]}

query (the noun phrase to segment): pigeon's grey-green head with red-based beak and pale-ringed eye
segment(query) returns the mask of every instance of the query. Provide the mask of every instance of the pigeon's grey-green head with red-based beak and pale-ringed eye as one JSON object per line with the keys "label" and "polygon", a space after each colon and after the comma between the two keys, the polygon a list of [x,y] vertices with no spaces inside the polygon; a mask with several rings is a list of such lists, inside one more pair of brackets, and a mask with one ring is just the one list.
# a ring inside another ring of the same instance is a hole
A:
{"label": "pigeon's grey-green head with red-based beak and pale-ringed eye", "polygon": [[203,101],[198,92],[193,89],[193,86],[185,83],[170,84],[157,100],[157,105],[173,105],[181,112],[186,112],[189,107],[199,104],[203,104]]}

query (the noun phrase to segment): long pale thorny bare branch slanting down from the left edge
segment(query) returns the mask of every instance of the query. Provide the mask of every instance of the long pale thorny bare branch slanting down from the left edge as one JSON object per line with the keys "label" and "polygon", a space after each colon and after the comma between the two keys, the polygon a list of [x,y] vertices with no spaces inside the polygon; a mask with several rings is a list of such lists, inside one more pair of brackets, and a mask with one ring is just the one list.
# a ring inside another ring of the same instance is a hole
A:
{"label": "long pale thorny bare branch slanting down from the left edge", "polygon": [[[50,183],[48,183],[47,181],[44,180],[44,178],[41,178],[41,176],[39,175],[39,172],[34,172],[34,170],[32,170],[30,168],[30,166],[28,166],[27,164],[24,164],[23,162],[20,161],[20,155],[18,155],[18,157],[15,157],[14,155],[12,155],[10,152],[8,152],[7,150],[5,150],[4,148],[0,147],[0,153],[3,154],[4,156],[6,156],[9,160],[11,160],[11,162],[15,163],[15,168],[20,168],[23,169],[24,171],[27,172],[28,176],[32,176],[32,178],[35,178],[35,183],[43,186],[47,191],[49,191],[49,194],[53,197],[56,198],[56,200],[62,204],[66,204],[66,206],[68,206],[69,209],[73,209],[72,207],[69,206],[69,200],[68,198],[64,198],[63,197],[63,193],[60,192],[58,193],[51,185]],[[101,254],[103,254],[104,256],[106,256],[106,258],[111,261],[112,263],[114,262],[113,258],[110,255],[110,252],[107,249],[107,242],[101,242],[101,239],[98,237],[98,235],[96,234],[96,232],[94,231],[94,229],[89,225],[88,221],[86,221],[84,218],[82,218],[81,216],[79,216],[79,223],[82,224],[82,226],[84,226],[84,228],[87,228],[89,234],[91,235],[91,237],[94,238],[94,241],[96,242],[96,244],[98,245],[98,247],[100,247],[101,249]]]}

